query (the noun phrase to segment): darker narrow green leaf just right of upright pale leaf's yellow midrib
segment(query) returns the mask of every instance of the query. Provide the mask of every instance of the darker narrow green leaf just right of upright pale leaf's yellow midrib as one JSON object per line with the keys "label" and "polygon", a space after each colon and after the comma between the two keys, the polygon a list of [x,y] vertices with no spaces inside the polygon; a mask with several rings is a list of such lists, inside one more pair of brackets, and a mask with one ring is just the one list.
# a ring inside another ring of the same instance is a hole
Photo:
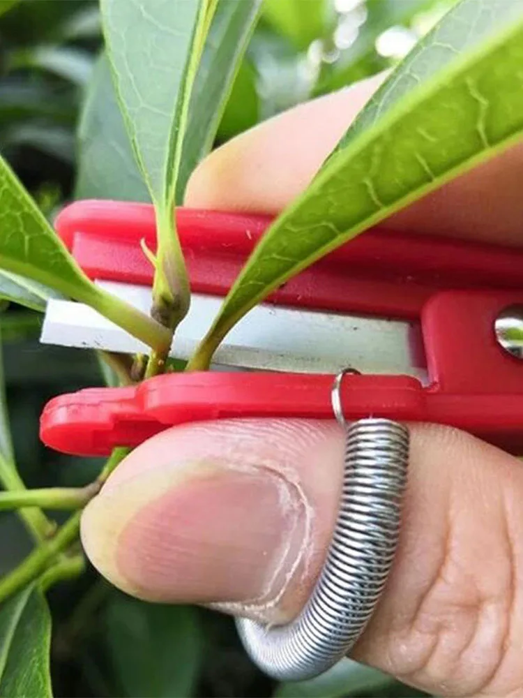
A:
{"label": "darker narrow green leaf just right of upright pale leaf's yellow midrib", "polygon": [[[192,89],[188,127],[176,185],[176,201],[179,203],[183,201],[185,186],[192,170],[213,147],[234,77],[257,22],[261,2],[262,0],[218,2]],[[242,109],[252,110],[252,104],[243,104]]]}

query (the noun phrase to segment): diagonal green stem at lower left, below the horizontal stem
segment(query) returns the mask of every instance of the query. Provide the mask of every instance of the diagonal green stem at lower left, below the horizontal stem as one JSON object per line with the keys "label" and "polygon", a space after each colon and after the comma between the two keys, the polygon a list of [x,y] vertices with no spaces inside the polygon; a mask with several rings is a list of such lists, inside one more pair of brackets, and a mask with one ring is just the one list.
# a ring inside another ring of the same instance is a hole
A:
{"label": "diagonal green stem at lower left, below the horizontal stem", "polygon": [[18,567],[0,580],[0,603],[45,572],[50,561],[65,550],[78,536],[80,516],[75,512],[54,537],[33,550]]}

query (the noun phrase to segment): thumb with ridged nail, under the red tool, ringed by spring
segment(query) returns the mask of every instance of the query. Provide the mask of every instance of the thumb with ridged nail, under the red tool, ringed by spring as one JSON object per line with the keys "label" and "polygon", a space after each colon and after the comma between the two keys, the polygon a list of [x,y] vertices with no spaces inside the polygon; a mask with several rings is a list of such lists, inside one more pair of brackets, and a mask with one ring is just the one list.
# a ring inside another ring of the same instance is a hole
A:
{"label": "thumb with ridged nail, under the red tool, ringed by spring", "polygon": [[[86,507],[84,547],[105,577],[143,599],[285,622],[324,563],[342,468],[333,422],[169,429],[132,452]],[[522,498],[513,456],[416,426],[400,547],[354,657],[439,695],[519,695]]]}

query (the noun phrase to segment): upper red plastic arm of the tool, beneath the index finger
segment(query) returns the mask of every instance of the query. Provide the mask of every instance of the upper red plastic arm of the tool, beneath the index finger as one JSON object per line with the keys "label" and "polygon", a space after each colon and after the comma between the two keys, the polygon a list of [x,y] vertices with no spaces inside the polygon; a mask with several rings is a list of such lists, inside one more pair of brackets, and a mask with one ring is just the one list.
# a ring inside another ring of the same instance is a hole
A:
{"label": "upper red plastic arm of the tool, beneath the index finger", "polygon": [[[271,223],[268,216],[176,210],[192,290],[225,295]],[[56,218],[61,235],[91,279],[151,285],[140,241],[156,249],[153,207],[75,202]],[[270,302],[312,309],[418,318],[442,289],[523,288],[523,250],[370,230],[273,293]]]}

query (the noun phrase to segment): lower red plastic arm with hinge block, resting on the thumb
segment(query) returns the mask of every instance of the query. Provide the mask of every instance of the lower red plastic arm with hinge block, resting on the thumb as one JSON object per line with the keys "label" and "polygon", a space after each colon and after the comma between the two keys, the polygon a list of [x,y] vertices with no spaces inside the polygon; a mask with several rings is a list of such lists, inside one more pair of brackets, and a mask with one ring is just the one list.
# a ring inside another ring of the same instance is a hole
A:
{"label": "lower red plastic arm with hinge block, resting on the thumb", "polygon": [[[407,376],[352,376],[342,383],[347,419],[381,416],[465,429],[523,452],[523,362],[497,343],[494,320],[523,304],[523,291],[441,292],[421,326],[430,385]],[[225,417],[332,419],[333,376],[296,373],[178,373],[137,387],[89,389],[46,406],[44,443],[82,455],[135,446],[167,426]]]}

